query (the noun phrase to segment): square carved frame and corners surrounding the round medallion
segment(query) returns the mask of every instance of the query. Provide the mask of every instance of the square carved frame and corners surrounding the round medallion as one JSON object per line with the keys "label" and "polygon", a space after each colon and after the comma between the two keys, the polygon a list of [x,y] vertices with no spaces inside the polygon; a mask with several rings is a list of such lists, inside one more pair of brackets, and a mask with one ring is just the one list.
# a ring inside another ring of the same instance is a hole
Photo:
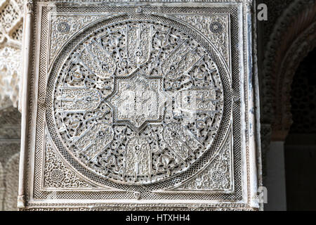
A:
{"label": "square carved frame and corners surrounding the round medallion", "polygon": [[[27,1],[23,39],[19,209],[258,210],[261,152],[254,6],[254,2],[250,0],[203,3]],[[187,7],[185,13],[183,7]],[[67,14],[69,12],[72,14]],[[69,23],[71,19],[67,15],[84,18],[84,23]],[[62,145],[56,142],[55,134],[52,133],[54,131],[49,121],[49,110],[53,94],[49,93],[53,92],[49,92],[48,84],[53,80],[55,68],[60,68],[55,66],[58,65],[56,62],[60,60],[65,63],[66,56],[62,54],[67,53],[67,45],[78,44],[82,40],[80,35],[94,32],[98,25],[109,23],[107,20],[112,18],[117,20],[119,16],[140,18],[139,20],[147,16],[166,24],[166,21],[172,20],[173,25],[190,27],[192,37],[201,37],[198,43],[208,40],[204,48],[211,46],[210,49],[217,49],[207,51],[212,53],[211,58],[216,61],[221,79],[225,83],[225,108],[223,122],[219,126],[223,133],[216,134],[214,138],[221,141],[218,141],[217,147],[214,144],[208,148],[200,156],[201,160],[196,160],[195,167],[199,169],[190,167],[166,181],[156,182],[160,186],[166,185],[166,188],[151,184],[154,181],[141,186],[126,186],[106,177],[100,178],[96,176],[96,171],[93,174],[91,168],[81,167],[82,164],[76,162],[73,155],[62,150]],[[202,23],[203,21],[210,23],[208,25]],[[209,31],[205,30],[205,25],[208,25]],[[209,32],[213,35],[209,35]],[[226,32],[226,35],[220,35],[221,32]],[[65,44],[58,46],[60,41],[65,41]],[[212,151],[211,148],[215,150]],[[213,155],[207,158],[210,154]],[[226,165],[228,186],[200,190],[197,188],[197,180],[202,179],[199,176],[203,176],[207,169],[214,168],[208,162],[216,162],[216,158],[219,158],[219,165]],[[177,180],[175,177],[183,181],[172,186]],[[111,185],[109,182],[112,182]],[[147,185],[149,191],[138,191],[143,190],[144,185]]]}

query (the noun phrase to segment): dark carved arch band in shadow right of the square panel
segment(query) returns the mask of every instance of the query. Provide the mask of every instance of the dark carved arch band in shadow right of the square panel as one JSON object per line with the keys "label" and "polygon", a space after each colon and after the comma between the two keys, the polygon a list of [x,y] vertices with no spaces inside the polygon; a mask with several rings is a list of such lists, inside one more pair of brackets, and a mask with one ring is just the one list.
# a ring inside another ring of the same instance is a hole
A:
{"label": "dark carved arch band in shadow right of the square panel", "polygon": [[263,124],[273,141],[284,141],[292,124],[291,83],[301,60],[316,46],[316,5],[296,0],[284,11],[270,36],[263,72]]}

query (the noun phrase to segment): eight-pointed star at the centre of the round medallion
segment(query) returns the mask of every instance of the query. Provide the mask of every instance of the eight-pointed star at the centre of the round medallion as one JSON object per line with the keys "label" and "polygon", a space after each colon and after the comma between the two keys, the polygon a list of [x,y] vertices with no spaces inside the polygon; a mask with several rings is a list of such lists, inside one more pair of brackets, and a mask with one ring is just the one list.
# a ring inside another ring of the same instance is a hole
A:
{"label": "eight-pointed star at the centre of the round medallion", "polygon": [[166,102],[162,78],[146,77],[136,70],[130,77],[115,77],[116,92],[110,97],[114,122],[130,122],[140,129],[145,122],[161,122]]}

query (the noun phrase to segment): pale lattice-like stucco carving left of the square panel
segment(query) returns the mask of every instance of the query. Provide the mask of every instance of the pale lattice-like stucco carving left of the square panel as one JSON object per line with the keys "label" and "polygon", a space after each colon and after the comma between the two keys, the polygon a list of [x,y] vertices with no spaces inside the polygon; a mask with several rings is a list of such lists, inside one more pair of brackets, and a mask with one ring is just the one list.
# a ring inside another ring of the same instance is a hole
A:
{"label": "pale lattice-like stucco carving left of the square panel", "polygon": [[22,15],[22,1],[0,1],[0,108],[18,105]]}

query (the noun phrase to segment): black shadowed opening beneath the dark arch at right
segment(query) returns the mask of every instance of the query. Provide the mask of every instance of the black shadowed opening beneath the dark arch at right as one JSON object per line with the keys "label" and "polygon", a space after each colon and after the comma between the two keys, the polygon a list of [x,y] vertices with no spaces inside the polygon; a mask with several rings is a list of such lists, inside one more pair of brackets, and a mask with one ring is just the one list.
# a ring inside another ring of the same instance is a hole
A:
{"label": "black shadowed opening beneath the dark arch at right", "polygon": [[316,49],[299,65],[291,86],[293,124],[284,145],[287,210],[316,210]]}

